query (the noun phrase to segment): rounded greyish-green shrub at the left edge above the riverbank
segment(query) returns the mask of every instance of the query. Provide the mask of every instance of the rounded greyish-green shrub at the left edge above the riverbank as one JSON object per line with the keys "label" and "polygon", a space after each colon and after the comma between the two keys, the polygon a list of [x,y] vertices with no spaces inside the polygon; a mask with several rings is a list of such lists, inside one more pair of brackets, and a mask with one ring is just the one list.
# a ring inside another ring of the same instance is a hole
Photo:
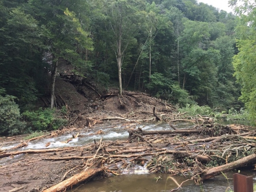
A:
{"label": "rounded greyish-green shrub at the left edge above the riverbank", "polygon": [[21,134],[26,126],[20,121],[19,105],[14,100],[11,95],[0,96],[0,135]]}

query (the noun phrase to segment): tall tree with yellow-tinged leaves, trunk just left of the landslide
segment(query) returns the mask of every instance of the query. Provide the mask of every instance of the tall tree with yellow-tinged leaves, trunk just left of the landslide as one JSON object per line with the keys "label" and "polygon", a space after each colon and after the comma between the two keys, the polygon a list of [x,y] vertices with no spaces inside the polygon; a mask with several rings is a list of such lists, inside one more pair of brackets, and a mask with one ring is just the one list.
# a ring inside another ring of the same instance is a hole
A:
{"label": "tall tree with yellow-tinged leaves, trunk just left of the landslide", "polygon": [[79,20],[75,13],[75,11],[78,11],[79,5],[84,6],[85,3],[83,0],[75,0],[72,3],[68,0],[29,1],[30,10],[28,11],[39,19],[42,26],[47,26],[49,30],[45,45],[48,46],[48,52],[53,55],[51,108],[54,107],[56,71],[61,60],[70,62],[80,69],[87,68],[88,65],[86,55],[84,57],[79,52],[83,53],[81,49],[84,52],[87,49],[92,49],[92,41],[82,25],[84,18],[80,16]]}

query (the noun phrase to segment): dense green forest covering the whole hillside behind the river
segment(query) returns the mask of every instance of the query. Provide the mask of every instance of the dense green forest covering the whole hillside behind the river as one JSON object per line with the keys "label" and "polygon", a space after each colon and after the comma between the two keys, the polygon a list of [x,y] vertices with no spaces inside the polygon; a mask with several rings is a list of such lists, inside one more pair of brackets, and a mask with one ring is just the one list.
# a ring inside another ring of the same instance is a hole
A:
{"label": "dense green forest covering the whole hillside behind the river", "polygon": [[240,2],[233,14],[196,0],[1,0],[0,134],[52,113],[63,62],[106,92],[245,109],[255,122],[256,3]]}

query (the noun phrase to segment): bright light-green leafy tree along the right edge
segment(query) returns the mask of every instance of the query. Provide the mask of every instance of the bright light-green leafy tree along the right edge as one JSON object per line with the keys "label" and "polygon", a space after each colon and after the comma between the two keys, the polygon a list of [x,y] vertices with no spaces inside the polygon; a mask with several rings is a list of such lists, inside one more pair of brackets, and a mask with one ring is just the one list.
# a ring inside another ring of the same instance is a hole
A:
{"label": "bright light-green leafy tree along the right edge", "polygon": [[241,18],[241,23],[237,26],[239,53],[234,56],[233,65],[237,81],[242,86],[240,99],[245,103],[250,119],[256,122],[256,2],[247,0],[241,2],[243,4],[237,6],[237,0],[230,1],[232,5],[236,5],[237,14]]}

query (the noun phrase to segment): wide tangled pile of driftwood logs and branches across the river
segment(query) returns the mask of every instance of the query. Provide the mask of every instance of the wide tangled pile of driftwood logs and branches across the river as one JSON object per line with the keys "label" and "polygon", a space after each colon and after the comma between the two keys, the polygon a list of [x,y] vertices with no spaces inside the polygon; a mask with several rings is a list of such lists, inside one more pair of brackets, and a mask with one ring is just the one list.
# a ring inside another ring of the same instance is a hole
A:
{"label": "wide tangled pile of driftwood logs and branches across the river", "polygon": [[[256,162],[256,132],[241,125],[223,126],[206,122],[195,125],[193,129],[144,131],[138,128],[128,132],[129,138],[125,141],[101,139],[83,147],[2,151],[0,158],[42,153],[41,159],[45,161],[81,160],[81,164],[63,174],[59,184],[44,192],[65,191],[97,173],[118,175],[136,165],[147,166],[150,172],[181,174],[200,183]],[[64,155],[67,151],[68,155]],[[49,153],[54,153],[54,156]],[[81,169],[81,172],[66,179],[74,169]]]}

